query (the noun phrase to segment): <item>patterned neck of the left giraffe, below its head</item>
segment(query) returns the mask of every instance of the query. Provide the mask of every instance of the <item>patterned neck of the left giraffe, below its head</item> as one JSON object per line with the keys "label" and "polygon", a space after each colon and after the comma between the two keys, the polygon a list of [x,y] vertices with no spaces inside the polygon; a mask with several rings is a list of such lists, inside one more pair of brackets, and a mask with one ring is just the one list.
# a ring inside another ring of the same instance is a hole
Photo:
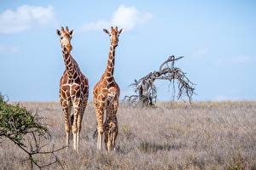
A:
{"label": "patterned neck of the left giraffe, below its head", "polygon": [[78,65],[73,59],[71,54],[67,51],[67,48],[62,48],[62,57],[66,65],[67,76],[69,79],[76,79],[78,77]]}

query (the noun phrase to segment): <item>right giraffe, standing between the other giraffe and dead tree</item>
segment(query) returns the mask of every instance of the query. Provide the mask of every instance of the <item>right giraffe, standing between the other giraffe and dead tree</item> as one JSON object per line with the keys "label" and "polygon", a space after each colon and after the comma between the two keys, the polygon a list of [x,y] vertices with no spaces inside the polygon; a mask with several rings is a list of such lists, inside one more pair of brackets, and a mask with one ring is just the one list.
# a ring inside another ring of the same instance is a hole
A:
{"label": "right giraffe, standing between the other giraffe and dead tree", "polygon": [[[106,71],[102,74],[99,82],[93,89],[94,105],[96,106],[96,120],[97,120],[97,149],[102,149],[102,135],[105,136],[106,149],[108,151],[115,148],[115,139],[118,135],[118,122],[116,113],[119,106],[119,85],[114,81],[114,53],[118,46],[119,35],[123,29],[118,30],[116,26],[108,31],[103,29],[110,37],[110,48],[108,55],[108,64]],[[103,125],[103,115],[106,111],[106,121]]]}

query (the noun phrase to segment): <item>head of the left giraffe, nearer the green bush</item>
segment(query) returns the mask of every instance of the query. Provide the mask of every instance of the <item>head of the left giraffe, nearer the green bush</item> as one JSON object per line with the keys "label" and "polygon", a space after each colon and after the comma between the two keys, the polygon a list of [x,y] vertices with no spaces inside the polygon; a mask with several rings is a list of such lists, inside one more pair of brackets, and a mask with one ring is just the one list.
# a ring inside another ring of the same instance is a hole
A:
{"label": "head of the left giraffe, nearer the green bush", "polygon": [[67,48],[67,52],[72,50],[71,39],[73,36],[73,30],[69,31],[66,26],[66,30],[61,26],[61,31],[57,29],[57,35],[61,37],[61,48]]}

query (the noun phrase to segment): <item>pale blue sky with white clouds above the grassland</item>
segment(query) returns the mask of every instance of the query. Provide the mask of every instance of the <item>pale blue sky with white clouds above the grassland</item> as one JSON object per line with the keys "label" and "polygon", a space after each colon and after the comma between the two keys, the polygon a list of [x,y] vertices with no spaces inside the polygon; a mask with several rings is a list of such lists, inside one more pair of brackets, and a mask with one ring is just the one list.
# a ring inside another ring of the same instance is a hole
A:
{"label": "pale blue sky with white clouds above the grassland", "polygon": [[[114,75],[121,96],[135,78],[169,55],[197,84],[195,100],[255,100],[255,1],[0,1],[0,91],[11,101],[58,100],[64,71],[55,29],[73,28],[73,57],[89,78],[102,76],[109,39],[102,27],[124,27]],[[157,82],[159,99],[171,99]],[[90,93],[91,98],[91,93]]]}

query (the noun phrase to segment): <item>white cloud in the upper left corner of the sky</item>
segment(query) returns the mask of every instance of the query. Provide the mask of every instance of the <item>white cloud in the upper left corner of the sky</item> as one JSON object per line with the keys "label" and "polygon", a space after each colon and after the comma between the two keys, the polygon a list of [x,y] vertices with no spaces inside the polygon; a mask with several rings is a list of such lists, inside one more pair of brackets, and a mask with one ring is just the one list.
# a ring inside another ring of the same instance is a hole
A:
{"label": "white cloud in the upper left corner of the sky", "polygon": [[26,31],[32,26],[55,24],[55,12],[52,6],[22,5],[16,11],[6,9],[0,14],[0,33],[11,34]]}

